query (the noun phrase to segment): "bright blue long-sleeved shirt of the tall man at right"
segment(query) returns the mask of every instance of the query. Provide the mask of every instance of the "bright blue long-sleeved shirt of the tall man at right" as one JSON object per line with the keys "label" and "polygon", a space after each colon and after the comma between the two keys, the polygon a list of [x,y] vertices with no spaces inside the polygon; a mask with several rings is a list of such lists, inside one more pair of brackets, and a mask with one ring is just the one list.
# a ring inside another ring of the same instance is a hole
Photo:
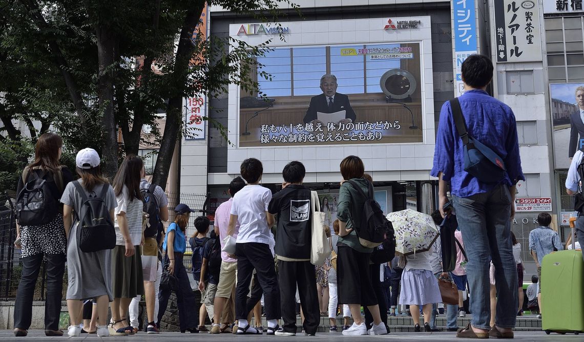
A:
{"label": "bright blue long-sleeved shirt of the tall man at right", "polygon": [[[468,90],[458,97],[467,130],[471,137],[491,148],[503,160],[507,173],[501,183],[515,185],[525,180],[519,158],[517,124],[515,114],[505,103],[490,96],[484,90]],[[485,184],[464,171],[463,141],[458,135],[450,102],[440,110],[440,123],[434,149],[434,167],[430,175],[450,181],[452,194],[470,197],[495,189],[498,184]]]}

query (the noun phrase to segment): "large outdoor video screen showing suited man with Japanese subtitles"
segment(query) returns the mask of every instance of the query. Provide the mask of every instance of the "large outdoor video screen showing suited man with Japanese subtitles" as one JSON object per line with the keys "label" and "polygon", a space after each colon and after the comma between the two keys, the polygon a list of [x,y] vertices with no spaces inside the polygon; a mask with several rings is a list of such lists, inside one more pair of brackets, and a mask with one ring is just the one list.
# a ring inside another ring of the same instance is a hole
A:
{"label": "large outdoor video screen showing suited man with Japanese subtitles", "polygon": [[240,147],[423,142],[419,43],[274,48],[258,62]]}

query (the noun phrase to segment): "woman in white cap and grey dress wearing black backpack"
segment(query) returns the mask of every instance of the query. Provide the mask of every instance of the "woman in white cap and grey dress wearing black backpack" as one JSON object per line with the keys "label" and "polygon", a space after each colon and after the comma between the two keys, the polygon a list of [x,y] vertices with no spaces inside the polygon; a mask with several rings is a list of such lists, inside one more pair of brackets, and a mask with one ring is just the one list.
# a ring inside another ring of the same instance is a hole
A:
{"label": "woman in white cap and grey dress wearing black backpack", "polygon": [[[80,179],[67,184],[61,197],[63,220],[67,232],[67,308],[71,318],[68,335],[79,336],[81,333],[82,307],[85,299],[93,299],[97,304],[98,325],[85,327],[88,332],[96,331],[99,337],[109,336],[106,327],[107,307],[113,301],[112,289],[112,250],[101,249],[96,252],[84,252],[81,243],[84,242],[79,228],[79,221],[86,222],[86,206],[92,201],[93,208],[99,208],[99,214],[104,214],[110,228],[110,240],[113,243],[114,209],[117,206],[116,195],[110,184],[102,176],[99,166],[98,152],[86,148],[77,153],[75,164]],[[89,197],[93,197],[89,200]],[[75,214],[74,214],[75,212]],[[99,215],[100,217],[102,215]],[[105,239],[103,230],[102,238]],[[96,241],[96,243],[98,243]],[[61,305],[58,306],[59,310]]]}

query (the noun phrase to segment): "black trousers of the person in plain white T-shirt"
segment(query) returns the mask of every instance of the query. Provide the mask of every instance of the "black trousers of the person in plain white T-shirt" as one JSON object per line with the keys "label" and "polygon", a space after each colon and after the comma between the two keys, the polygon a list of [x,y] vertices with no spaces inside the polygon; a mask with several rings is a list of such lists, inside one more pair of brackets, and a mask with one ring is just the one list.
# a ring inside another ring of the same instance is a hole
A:
{"label": "black trousers of the person in plain white T-shirt", "polygon": [[248,319],[248,292],[253,268],[258,274],[258,282],[262,287],[266,319],[280,319],[280,287],[270,247],[266,243],[237,243],[235,255],[237,256],[235,319]]}

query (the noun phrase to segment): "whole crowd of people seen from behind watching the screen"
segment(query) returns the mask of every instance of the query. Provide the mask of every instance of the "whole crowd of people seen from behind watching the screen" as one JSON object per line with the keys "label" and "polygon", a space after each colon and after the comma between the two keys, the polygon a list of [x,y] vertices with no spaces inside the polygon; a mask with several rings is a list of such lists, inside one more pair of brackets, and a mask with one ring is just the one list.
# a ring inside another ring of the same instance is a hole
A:
{"label": "whole crowd of people seen from behind watching the screen", "polygon": [[[39,138],[34,162],[18,184],[19,193],[42,188],[50,195],[43,203],[53,205],[54,212],[35,217],[36,224],[30,224],[30,219],[25,224],[25,217],[19,217],[15,245],[22,249],[23,269],[15,336],[26,336],[31,325],[34,284],[44,259],[47,336],[63,334],[58,320],[66,264],[68,336],[137,333],[142,296],[147,311],[144,330],[158,333],[171,292],[176,294],[182,333],[293,336],[298,330],[297,313],[308,336],[317,333],[321,316],[328,316],[331,332],[341,330],[347,336],[387,334],[387,317],[397,315],[411,315],[415,331],[437,331],[436,315],[442,303],[437,279],[444,278],[454,282],[458,291],[457,305],[445,308],[448,331],[467,338],[512,338],[524,301],[521,245],[509,223],[516,183],[524,180],[515,117],[509,107],[485,92],[492,78],[491,61],[471,55],[461,70],[467,92],[459,102],[467,123],[472,123],[468,130],[475,138],[493,142],[495,152],[505,158],[506,173],[500,182],[487,184],[461,172],[465,168],[463,142],[453,138],[457,134],[453,109],[445,103],[432,169],[439,179],[440,207],[432,218],[439,226],[445,217],[458,214],[453,270],[443,267],[440,236],[427,252],[373,263],[374,248],[364,246],[357,233],[363,215],[360,208],[370,199],[363,194],[373,182],[358,156],[347,156],[340,163],[337,219],[331,219],[328,199],[322,205],[332,252],[324,264],[315,266],[311,263],[315,199],[303,185],[306,171],[301,162],[284,167],[281,190],[273,194],[261,184],[262,162],[245,159],[241,177],[229,185],[231,198],[215,211],[213,226],[207,217],[193,218],[194,210],[178,204],[173,222],[164,228],[163,222],[169,219],[168,197],[161,187],[147,182],[141,158],[126,156],[110,184],[102,176],[98,153],[82,149],[75,160],[78,179],[74,180],[59,161],[62,139],[46,133]],[[475,113],[472,120],[471,111]],[[493,124],[496,127],[489,126]],[[447,182],[454,213],[446,209],[450,203]],[[196,231],[187,236],[191,222]],[[529,250],[538,267],[537,288],[530,287],[527,294],[529,305],[535,293],[540,300],[542,258],[563,247],[550,228],[551,216],[541,213],[538,222],[540,227],[529,236]],[[185,268],[188,247],[190,270]],[[457,317],[466,315],[463,299],[468,289],[473,316],[471,323],[459,328]],[[199,294],[197,314],[193,308]],[[259,318],[262,306],[266,329]],[[342,327],[337,323],[339,314]],[[205,325],[207,315],[210,329]]]}

